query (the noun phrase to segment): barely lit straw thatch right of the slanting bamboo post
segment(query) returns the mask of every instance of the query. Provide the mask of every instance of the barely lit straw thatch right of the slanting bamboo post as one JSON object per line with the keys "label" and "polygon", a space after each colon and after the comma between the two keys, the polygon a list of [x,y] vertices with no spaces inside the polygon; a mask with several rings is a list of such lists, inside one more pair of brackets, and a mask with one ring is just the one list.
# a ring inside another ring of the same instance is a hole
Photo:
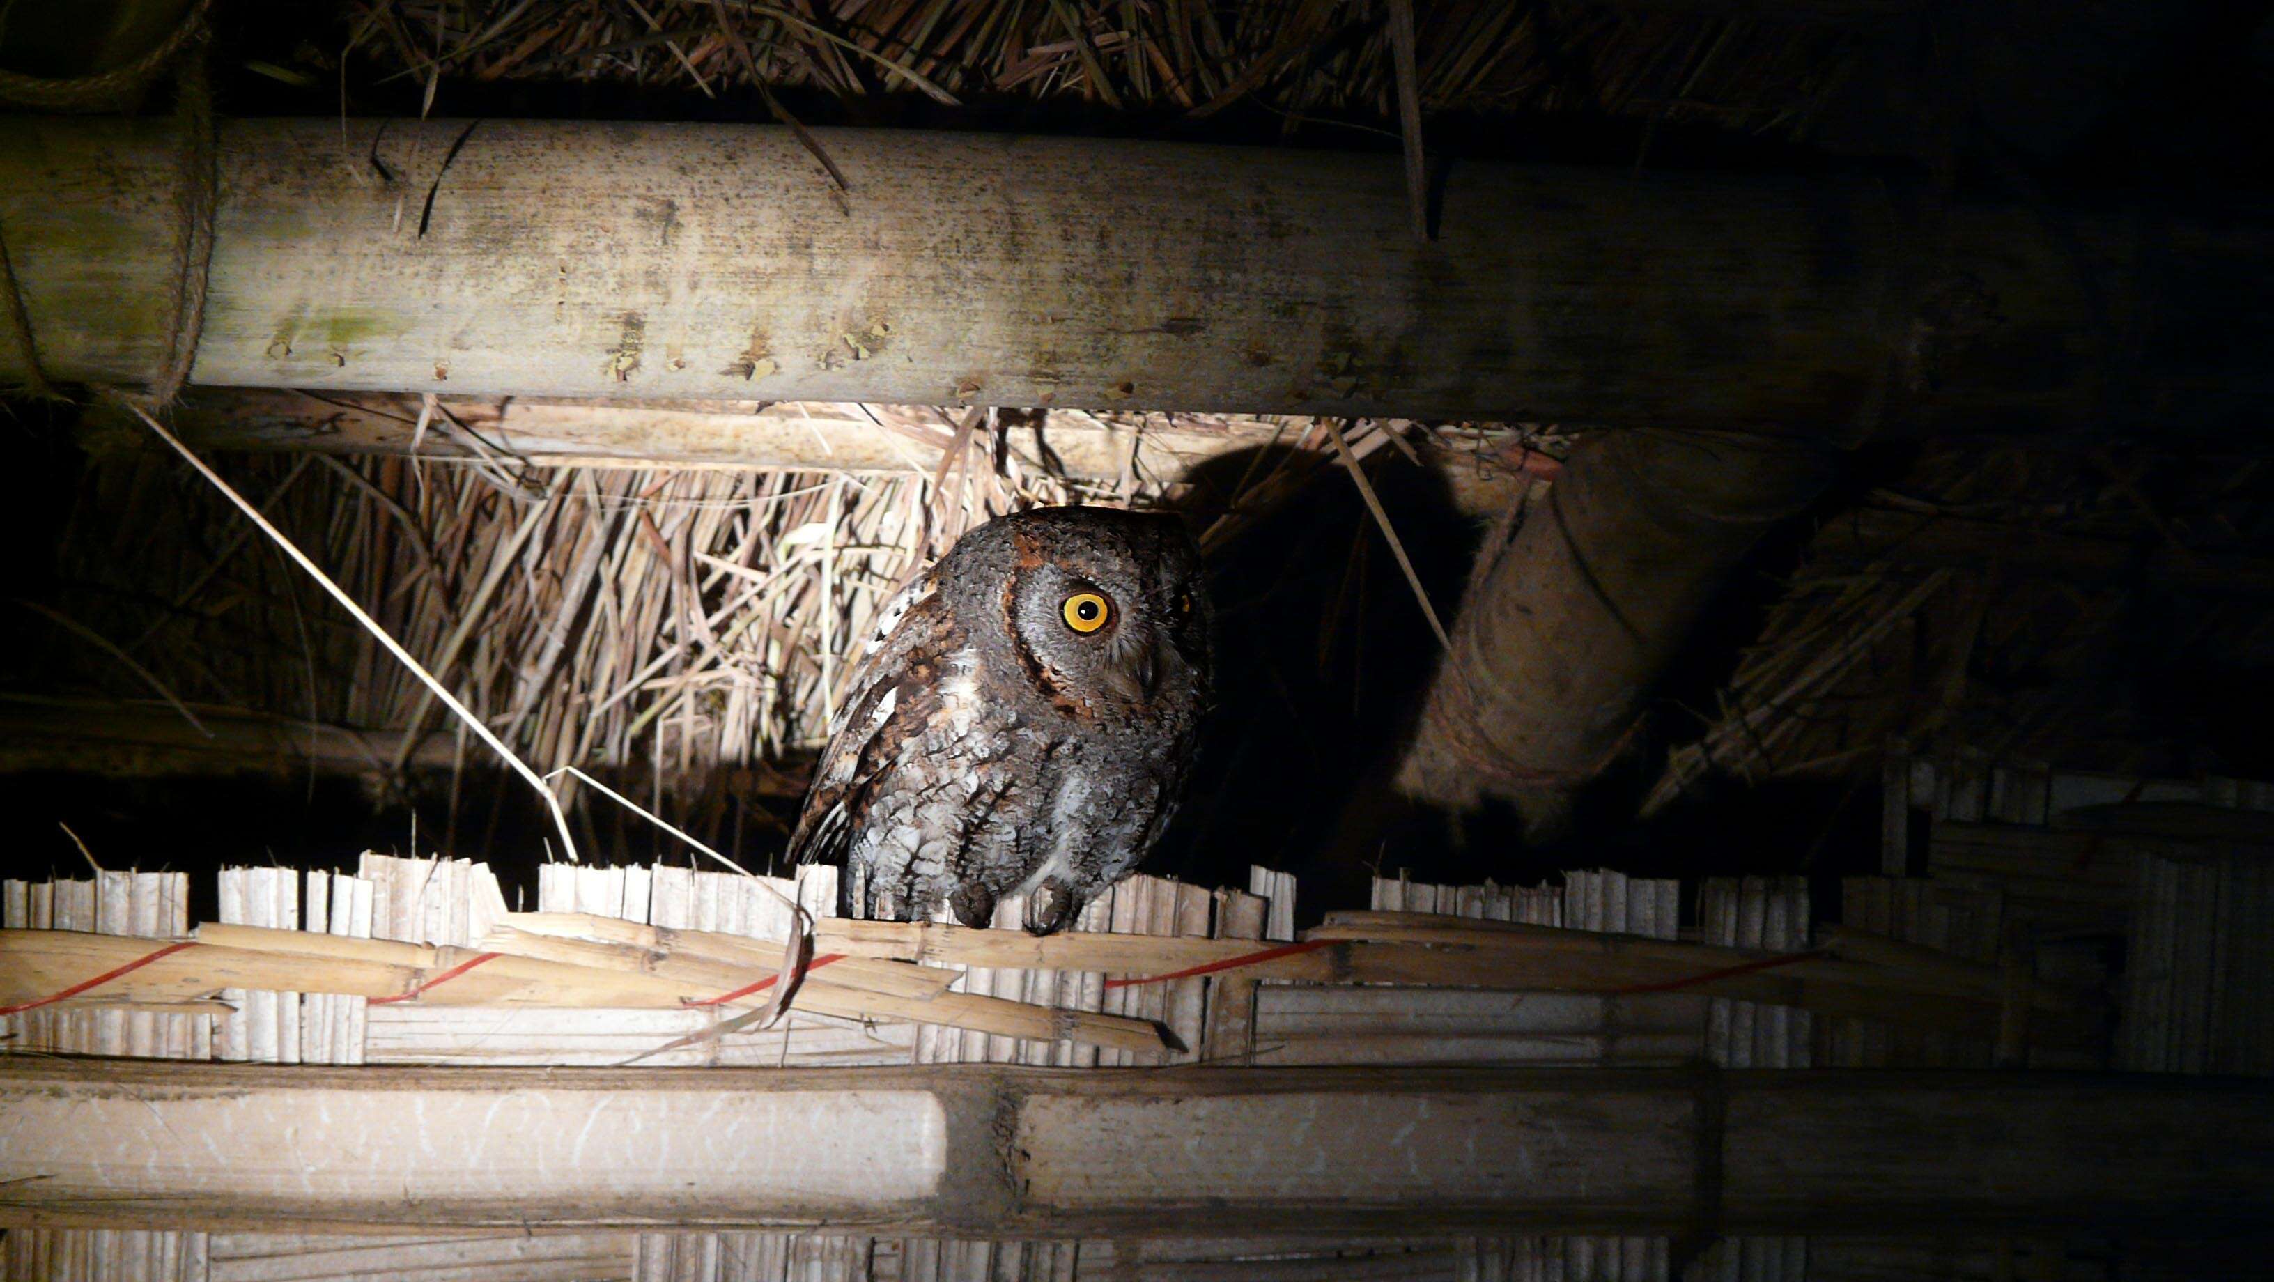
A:
{"label": "barely lit straw thatch right of the slanting bamboo post", "polygon": [[2267,480],[2260,459],[2185,443],[1931,443],[1817,530],[1644,809],[1712,773],[1865,777],[1890,741],[2142,777],[2249,771],[2219,759],[2238,743],[2201,693],[2274,646]]}

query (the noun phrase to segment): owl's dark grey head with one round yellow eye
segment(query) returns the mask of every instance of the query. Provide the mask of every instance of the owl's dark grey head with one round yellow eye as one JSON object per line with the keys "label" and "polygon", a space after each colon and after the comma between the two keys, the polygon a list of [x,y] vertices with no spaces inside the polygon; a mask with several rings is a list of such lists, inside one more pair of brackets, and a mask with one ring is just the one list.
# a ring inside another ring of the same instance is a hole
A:
{"label": "owl's dark grey head with one round yellow eye", "polygon": [[[960,607],[1001,621],[1021,675],[1057,705],[1148,716],[1194,711],[1207,698],[1201,550],[1173,516],[1110,507],[1001,516],[964,534],[939,568],[966,596]],[[994,632],[966,618],[973,632]]]}

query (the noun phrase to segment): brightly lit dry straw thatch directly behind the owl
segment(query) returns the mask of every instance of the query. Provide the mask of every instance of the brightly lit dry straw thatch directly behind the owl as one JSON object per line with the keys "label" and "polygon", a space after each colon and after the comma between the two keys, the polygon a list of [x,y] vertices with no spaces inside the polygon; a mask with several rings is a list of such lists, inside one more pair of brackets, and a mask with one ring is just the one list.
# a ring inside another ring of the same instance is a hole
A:
{"label": "brightly lit dry straw thatch directly behind the owl", "polygon": [[[223,468],[537,771],[591,771],[741,846],[737,798],[798,791],[796,766],[785,775],[782,764],[825,734],[871,614],[964,530],[1035,505],[1189,498],[1185,477],[1155,473],[1142,450],[1114,480],[1067,477],[1051,457],[1012,448],[998,414],[835,409],[905,441],[910,466],[546,468],[484,450],[471,461],[234,455]],[[1103,418],[1130,439],[1146,425],[1223,427],[1203,416]],[[1253,455],[1207,541],[1337,461],[1337,427],[1323,421],[1239,427],[1283,448]],[[1474,427],[1339,430],[1355,457],[1389,466],[1458,450],[1478,471],[1494,466],[1499,443]],[[493,766],[175,459],[100,459],[59,548],[61,593],[43,618],[18,618],[39,641],[27,659],[48,689],[159,691],[309,727],[409,732],[373,743],[368,775],[382,780],[400,777],[414,752],[432,761],[421,743],[453,739],[462,768]],[[582,791],[562,786],[571,802]],[[453,816],[457,793],[453,777]]]}

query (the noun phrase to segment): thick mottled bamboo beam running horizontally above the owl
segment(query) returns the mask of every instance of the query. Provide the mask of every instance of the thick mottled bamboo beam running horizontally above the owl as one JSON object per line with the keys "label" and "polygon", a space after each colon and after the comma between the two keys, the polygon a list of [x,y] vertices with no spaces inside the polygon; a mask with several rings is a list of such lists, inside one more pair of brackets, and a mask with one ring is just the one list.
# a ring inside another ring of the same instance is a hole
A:
{"label": "thick mottled bamboo beam running horizontally above the owl", "polygon": [[[1396,157],[819,136],[850,195],[775,127],[227,120],[193,380],[1731,430],[2267,398],[2251,220],[1956,205],[1926,234],[1865,182],[1464,164],[1421,245]],[[50,375],[150,375],[175,157],[161,120],[11,123]]]}

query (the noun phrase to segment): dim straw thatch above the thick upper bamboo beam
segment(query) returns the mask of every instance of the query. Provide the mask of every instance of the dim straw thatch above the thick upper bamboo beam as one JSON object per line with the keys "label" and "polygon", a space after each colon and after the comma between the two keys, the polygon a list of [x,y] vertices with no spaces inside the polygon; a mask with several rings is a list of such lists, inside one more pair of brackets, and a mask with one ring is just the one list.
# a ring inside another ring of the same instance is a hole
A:
{"label": "dim straw thatch above the thick upper bamboo beam", "polygon": [[[1276,114],[1287,134],[1396,136],[1378,0],[377,0],[348,5],[343,23],[343,86],[400,89],[443,111],[466,80],[703,95],[755,80],[839,102],[1076,100],[1162,118],[1237,102]],[[1451,2],[1414,7],[1414,52],[1433,114],[1585,111],[1799,134],[1846,75],[1853,36],[1649,7]],[[327,61],[307,59],[307,70]]]}

